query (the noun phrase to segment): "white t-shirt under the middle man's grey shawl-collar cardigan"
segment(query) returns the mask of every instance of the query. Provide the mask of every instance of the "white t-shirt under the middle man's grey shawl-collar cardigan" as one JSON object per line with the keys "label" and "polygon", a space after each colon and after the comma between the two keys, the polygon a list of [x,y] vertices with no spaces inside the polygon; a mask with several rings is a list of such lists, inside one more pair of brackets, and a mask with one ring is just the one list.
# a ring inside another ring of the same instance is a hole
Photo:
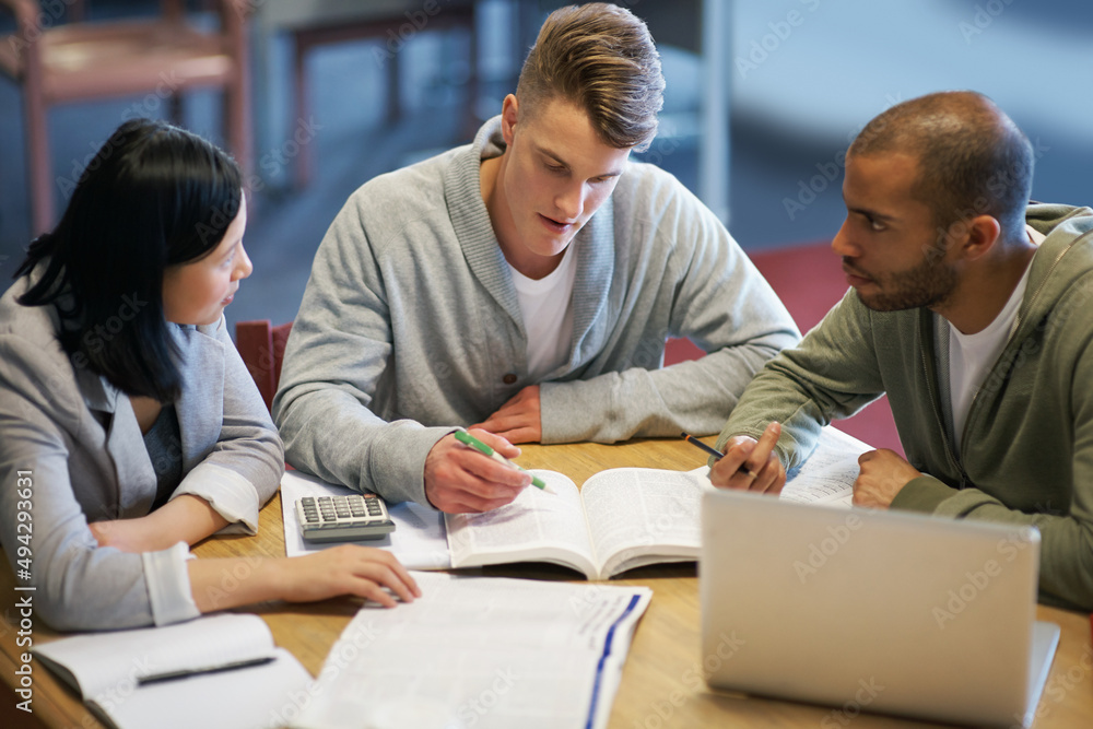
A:
{"label": "white t-shirt under the middle man's grey shawl-collar cardigan", "polygon": [[538,381],[565,364],[573,340],[573,283],[576,254],[565,249],[562,262],[542,279],[529,279],[512,266],[513,284],[528,331],[528,375]]}

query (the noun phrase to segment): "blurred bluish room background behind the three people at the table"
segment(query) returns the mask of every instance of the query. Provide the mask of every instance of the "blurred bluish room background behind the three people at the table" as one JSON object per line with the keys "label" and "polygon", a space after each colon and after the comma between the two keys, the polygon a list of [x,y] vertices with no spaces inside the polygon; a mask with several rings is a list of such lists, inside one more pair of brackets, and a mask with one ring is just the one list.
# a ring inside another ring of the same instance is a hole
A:
{"label": "blurred bluish room background behind the three people at the table", "polygon": [[[0,36],[9,51],[37,37],[16,27],[10,4],[0,2]],[[161,12],[155,0],[38,4],[43,38],[79,19],[116,23]],[[195,28],[224,25],[222,3],[184,4]],[[228,308],[230,321],[294,318],[315,249],[346,197],[378,174],[468,142],[515,90],[542,19],[561,4],[235,2],[227,12],[245,20],[249,75],[254,198],[247,247],[255,273]],[[785,250],[791,260],[802,246],[830,240],[844,213],[842,154],[855,132],[894,103],[944,89],[988,94],[1025,130],[1037,154],[1034,198],[1093,202],[1088,0],[621,4],[647,20],[668,82],[660,134],[642,156],[698,193],[750,254]],[[66,62],[79,63],[79,51]],[[177,115],[185,127],[232,148],[223,94],[187,91],[178,104],[172,92],[179,87],[168,75],[149,92],[48,107],[54,220],[89,156],[127,118]],[[0,78],[4,281],[38,232],[27,183],[26,110],[23,83]],[[837,295],[844,287],[837,259],[823,260]]]}

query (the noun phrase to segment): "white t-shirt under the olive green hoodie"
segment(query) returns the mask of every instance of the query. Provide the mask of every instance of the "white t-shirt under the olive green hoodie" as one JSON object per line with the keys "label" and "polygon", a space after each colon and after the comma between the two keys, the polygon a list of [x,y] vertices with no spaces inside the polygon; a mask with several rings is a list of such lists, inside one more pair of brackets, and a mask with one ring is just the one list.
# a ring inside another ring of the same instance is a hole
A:
{"label": "white t-shirt under the olive green hoodie", "polygon": [[[1031,227],[1027,231],[1032,242],[1039,246],[1044,236]],[[956,440],[957,452],[961,448],[964,421],[967,420],[972,399],[1013,334],[1018,310],[1021,308],[1021,299],[1024,298],[1025,287],[1029,284],[1029,271],[1031,270],[1032,262],[1025,267],[1024,274],[1013,289],[1013,293],[1010,294],[1006,306],[986,329],[974,334],[964,334],[952,324],[949,325],[949,392],[951,393],[953,436]]]}

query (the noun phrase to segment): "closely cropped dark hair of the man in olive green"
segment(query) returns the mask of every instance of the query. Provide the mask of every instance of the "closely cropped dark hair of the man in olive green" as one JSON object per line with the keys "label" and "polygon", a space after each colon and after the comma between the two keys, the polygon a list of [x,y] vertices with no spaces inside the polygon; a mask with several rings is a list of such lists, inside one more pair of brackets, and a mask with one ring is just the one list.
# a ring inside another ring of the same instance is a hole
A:
{"label": "closely cropped dark hair of the man in olive green", "polygon": [[912,195],[929,205],[937,226],[986,214],[1007,234],[1024,227],[1032,144],[983,94],[941,92],[897,104],[866,125],[847,156],[892,152],[918,160]]}

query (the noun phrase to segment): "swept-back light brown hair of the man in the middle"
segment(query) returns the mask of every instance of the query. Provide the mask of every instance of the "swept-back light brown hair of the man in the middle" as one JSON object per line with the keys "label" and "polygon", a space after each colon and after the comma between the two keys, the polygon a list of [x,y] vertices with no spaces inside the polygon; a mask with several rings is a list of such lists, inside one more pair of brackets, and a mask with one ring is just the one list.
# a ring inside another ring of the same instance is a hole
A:
{"label": "swept-back light brown hair of the man in the middle", "polygon": [[649,30],[628,10],[603,2],[551,13],[516,87],[521,111],[564,98],[588,114],[608,144],[638,152],[657,134],[663,95]]}

